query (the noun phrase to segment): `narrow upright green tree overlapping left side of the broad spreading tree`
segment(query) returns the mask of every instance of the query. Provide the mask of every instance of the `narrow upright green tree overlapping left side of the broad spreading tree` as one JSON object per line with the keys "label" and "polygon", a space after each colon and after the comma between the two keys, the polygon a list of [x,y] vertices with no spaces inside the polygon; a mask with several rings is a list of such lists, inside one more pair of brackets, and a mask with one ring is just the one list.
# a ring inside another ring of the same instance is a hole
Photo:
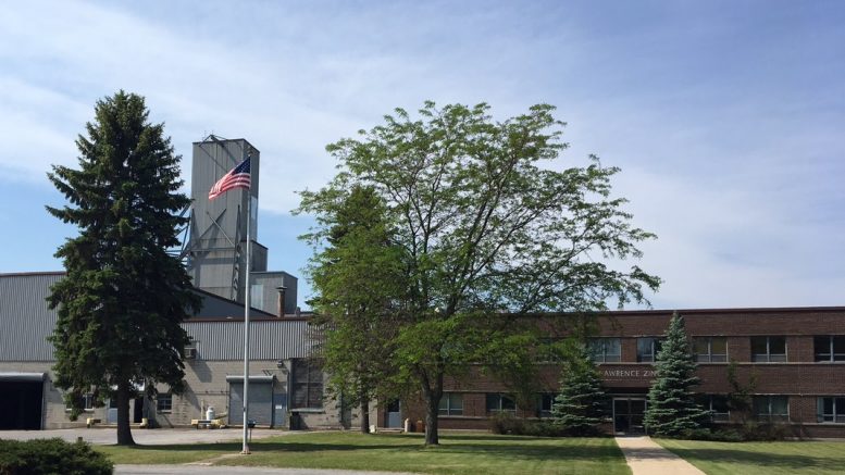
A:
{"label": "narrow upright green tree overlapping left side of the broad spreading tree", "polygon": [[318,250],[308,268],[318,293],[310,302],[316,312],[312,323],[324,328],[320,354],[330,387],[360,408],[365,434],[370,401],[388,397],[395,375],[393,337],[407,288],[405,268],[401,249],[392,241],[387,208],[375,190],[355,186],[348,193],[330,193],[302,202],[303,209],[326,205],[319,216],[322,226],[302,236]]}

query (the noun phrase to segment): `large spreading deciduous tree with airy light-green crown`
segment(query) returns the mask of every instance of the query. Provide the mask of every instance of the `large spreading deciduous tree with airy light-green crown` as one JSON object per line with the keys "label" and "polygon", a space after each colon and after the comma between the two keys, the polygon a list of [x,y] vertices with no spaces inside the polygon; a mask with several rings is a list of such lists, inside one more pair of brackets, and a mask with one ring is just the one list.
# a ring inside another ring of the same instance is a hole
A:
{"label": "large spreading deciduous tree with airy light-green crown", "polygon": [[527,367],[509,351],[531,341],[508,332],[523,328],[511,325],[520,315],[641,301],[659,284],[621,265],[653,235],[611,197],[618,170],[595,158],[563,168],[563,124],[552,111],[540,104],[496,122],[486,104],[427,102],[419,118],[397,109],[360,138],[330,145],[339,173],[303,192],[305,211],[318,215],[328,207],[321,196],[356,185],[374,188],[389,210],[408,285],[394,360],[425,402],[427,445],[438,442],[446,375],[473,362]]}

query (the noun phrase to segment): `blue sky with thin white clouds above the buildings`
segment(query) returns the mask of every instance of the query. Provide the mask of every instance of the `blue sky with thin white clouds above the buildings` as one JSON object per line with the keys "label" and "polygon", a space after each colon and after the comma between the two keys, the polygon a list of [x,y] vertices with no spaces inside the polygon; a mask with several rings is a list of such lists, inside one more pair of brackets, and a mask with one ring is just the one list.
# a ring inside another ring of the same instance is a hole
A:
{"label": "blue sky with thin white clouds above the buildings", "polygon": [[[296,191],[327,143],[395,108],[557,107],[570,148],[619,166],[614,195],[658,239],[655,309],[845,305],[841,1],[28,1],[0,9],[0,272],[61,270],[45,211],[98,99],[144,96],[183,173],[191,142],[261,151],[258,241],[300,276]],[[187,191],[187,190],[186,190]],[[629,307],[642,308],[642,307]]]}

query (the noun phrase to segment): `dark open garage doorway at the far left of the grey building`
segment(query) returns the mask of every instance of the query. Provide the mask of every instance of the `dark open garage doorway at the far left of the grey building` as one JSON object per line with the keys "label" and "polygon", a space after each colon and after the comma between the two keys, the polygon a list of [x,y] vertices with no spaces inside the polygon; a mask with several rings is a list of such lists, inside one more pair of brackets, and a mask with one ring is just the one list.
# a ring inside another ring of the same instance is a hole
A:
{"label": "dark open garage doorway at the far left of the grey building", "polygon": [[0,430],[40,430],[44,373],[0,373]]}

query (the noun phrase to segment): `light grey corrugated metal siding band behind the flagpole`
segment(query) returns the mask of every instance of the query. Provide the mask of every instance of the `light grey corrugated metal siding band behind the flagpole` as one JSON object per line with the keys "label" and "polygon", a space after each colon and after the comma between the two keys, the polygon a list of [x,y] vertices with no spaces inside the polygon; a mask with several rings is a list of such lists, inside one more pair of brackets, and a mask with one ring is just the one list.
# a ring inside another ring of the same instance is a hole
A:
{"label": "light grey corrugated metal siding band behind the flagpole", "polygon": [[[183,324],[197,343],[199,360],[241,360],[244,322],[186,322]],[[250,360],[306,358],[319,338],[308,322],[259,321],[249,325]]]}

